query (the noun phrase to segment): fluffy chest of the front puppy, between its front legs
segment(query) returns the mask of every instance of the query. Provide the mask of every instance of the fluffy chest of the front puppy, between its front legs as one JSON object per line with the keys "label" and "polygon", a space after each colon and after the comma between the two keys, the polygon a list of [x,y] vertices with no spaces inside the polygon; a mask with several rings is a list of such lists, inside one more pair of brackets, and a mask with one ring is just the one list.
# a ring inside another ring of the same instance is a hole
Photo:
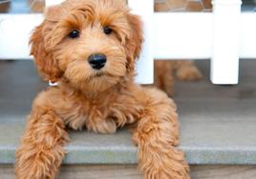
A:
{"label": "fluffy chest of the front puppy, between its front legs", "polygon": [[136,101],[127,96],[100,101],[67,99],[63,103],[65,105],[57,113],[72,129],[97,130],[102,125],[121,127],[132,124],[139,118],[141,110]]}

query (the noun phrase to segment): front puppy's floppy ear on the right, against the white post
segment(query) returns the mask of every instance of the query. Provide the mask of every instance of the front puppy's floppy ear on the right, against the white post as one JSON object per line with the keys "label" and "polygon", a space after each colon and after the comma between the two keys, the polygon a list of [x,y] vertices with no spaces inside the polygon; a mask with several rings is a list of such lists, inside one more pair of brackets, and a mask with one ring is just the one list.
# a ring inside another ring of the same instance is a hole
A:
{"label": "front puppy's floppy ear on the right, against the white post", "polygon": [[139,58],[143,41],[142,22],[140,21],[139,16],[134,14],[128,14],[127,20],[131,27],[130,37],[126,42],[128,56],[127,69],[133,71],[135,68],[135,60]]}

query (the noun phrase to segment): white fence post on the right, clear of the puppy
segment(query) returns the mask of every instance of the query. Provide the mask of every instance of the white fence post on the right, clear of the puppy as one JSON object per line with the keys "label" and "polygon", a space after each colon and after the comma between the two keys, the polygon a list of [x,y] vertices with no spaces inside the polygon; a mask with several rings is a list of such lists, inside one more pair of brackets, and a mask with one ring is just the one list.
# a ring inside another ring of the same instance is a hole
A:
{"label": "white fence post on the right, clear of the puppy", "polygon": [[241,0],[213,0],[213,84],[237,84],[239,76],[239,41]]}

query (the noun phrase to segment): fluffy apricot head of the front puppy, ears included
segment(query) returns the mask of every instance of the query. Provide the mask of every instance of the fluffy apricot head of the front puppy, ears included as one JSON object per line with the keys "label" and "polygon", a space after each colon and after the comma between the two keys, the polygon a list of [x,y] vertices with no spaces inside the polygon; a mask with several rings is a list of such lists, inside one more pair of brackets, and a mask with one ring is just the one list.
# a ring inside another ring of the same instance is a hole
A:
{"label": "fluffy apricot head of the front puppy, ears included", "polygon": [[120,0],[67,0],[49,8],[32,33],[32,55],[44,79],[102,91],[134,75],[139,17]]}

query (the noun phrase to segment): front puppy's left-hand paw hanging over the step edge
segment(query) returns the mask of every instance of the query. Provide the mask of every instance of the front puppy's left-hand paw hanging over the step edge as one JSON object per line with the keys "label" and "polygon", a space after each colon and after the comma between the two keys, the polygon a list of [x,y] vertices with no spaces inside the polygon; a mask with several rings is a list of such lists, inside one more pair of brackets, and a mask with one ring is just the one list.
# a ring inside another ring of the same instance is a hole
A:
{"label": "front puppy's left-hand paw hanging over the step edge", "polygon": [[64,156],[63,149],[24,145],[16,151],[17,179],[54,179]]}

